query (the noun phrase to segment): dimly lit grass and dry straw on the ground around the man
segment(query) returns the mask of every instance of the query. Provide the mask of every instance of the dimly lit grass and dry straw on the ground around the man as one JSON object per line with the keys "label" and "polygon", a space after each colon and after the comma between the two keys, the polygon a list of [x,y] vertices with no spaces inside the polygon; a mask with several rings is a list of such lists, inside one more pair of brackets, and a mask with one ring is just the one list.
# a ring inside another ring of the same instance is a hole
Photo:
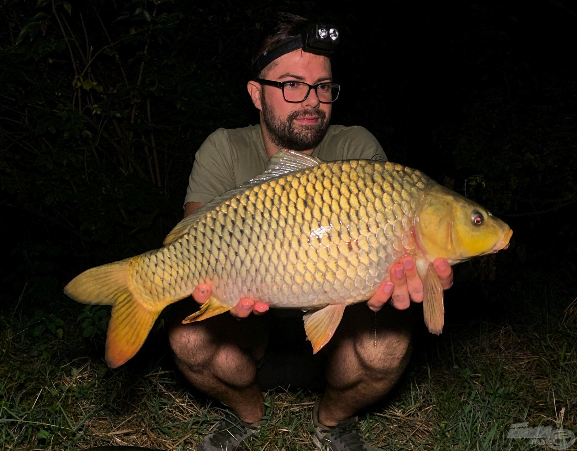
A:
{"label": "dimly lit grass and dry straw on the ground around the man", "polygon": [[[534,294],[502,312],[449,321],[438,338],[419,329],[402,380],[361,412],[365,438],[387,450],[523,450],[549,448],[507,438],[513,423],[576,433],[577,300],[551,287],[545,295],[546,302]],[[16,309],[0,315],[0,449],[194,450],[218,420],[222,407],[190,391],[175,370],[162,321],[143,352],[111,370],[98,332],[102,308],[83,312],[59,300],[54,313],[28,304],[24,291]],[[458,317],[462,305],[447,309]],[[247,449],[316,449],[310,412],[320,395],[269,394],[275,422]]]}

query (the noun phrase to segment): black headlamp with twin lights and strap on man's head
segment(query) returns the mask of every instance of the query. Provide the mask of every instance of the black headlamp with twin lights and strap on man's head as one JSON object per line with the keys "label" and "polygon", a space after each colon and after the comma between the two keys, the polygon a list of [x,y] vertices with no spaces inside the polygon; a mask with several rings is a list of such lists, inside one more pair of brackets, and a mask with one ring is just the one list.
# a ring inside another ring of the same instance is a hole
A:
{"label": "black headlamp with twin lights and strap on man's head", "polygon": [[305,52],[330,56],[340,42],[340,29],[323,22],[307,22],[301,33],[291,37],[271,50],[263,52],[252,65],[253,77],[266,66],[287,53],[302,48]]}

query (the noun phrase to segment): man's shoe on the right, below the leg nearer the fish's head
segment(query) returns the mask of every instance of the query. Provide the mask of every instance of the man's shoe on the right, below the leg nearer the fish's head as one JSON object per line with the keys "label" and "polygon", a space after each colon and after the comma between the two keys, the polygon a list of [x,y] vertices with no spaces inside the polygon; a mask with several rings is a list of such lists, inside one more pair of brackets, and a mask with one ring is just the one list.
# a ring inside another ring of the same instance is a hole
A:
{"label": "man's shoe on the right, below the leg nearer the fish's head", "polygon": [[377,451],[361,438],[358,416],[340,420],[336,426],[325,426],[319,423],[319,404],[313,408],[313,442],[323,451]]}

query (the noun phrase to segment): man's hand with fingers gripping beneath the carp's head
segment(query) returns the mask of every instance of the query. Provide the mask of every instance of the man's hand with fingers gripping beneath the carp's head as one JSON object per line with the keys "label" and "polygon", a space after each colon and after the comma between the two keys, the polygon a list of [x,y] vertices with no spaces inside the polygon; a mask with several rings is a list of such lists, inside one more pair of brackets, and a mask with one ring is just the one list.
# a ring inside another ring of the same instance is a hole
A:
{"label": "man's hand with fingers gripping beneath the carp's head", "polygon": [[[447,259],[438,258],[433,261],[433,267],[439,275],[443,290],[447,290],[453,285],[453,270]],[[369,299],[367,305],[373,312],[378,312],[385,302],[391,298],[394,308],[404,310],[414,302],[423,301],[423,283],[417,274],[415,259],[413,256],[404,255],[400,263],[391,267],[390,281],[384,282],[377,289],[377,292]]]}

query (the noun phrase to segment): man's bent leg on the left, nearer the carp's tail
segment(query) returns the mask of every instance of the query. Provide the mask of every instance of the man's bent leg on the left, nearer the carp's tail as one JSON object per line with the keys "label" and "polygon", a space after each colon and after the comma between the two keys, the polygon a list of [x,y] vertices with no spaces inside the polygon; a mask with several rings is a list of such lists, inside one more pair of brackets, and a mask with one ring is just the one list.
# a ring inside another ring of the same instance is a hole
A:
{"label": "man's bent leg on the left, nearer the carp's tail", "polygon": [[174,359],[190,384],[230,406],[246,423],[265,412],[256,384],[255,359],[263,357],[268,329],[263,317],[238,321],[224,313],[198,323],[182,324],[198,304],[175,305],[168,330]]}

